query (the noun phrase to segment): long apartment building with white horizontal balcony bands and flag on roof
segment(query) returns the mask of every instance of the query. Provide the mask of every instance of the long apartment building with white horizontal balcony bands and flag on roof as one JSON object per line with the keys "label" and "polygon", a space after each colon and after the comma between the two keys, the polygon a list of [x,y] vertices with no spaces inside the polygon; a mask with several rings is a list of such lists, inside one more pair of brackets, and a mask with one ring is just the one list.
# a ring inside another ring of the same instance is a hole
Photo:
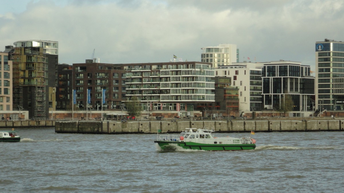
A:
{"label": "long apartment building with white horizontal balcony bands and flag on roof", "polygon": [[214,70],[209,63],[125,64],[124,68],[127,100],[136,96],[145,110],[192,112],[215,102]]}

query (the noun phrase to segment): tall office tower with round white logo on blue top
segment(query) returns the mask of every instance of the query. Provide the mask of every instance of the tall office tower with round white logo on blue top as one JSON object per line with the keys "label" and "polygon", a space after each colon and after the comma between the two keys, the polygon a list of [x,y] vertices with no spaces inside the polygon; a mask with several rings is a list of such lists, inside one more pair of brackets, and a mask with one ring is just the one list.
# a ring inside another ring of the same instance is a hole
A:
{"label": "tall office tower with round white logo on blue top", "polygon": [[315,103],[318,110],[344,110],[344,42],[315,43]]}

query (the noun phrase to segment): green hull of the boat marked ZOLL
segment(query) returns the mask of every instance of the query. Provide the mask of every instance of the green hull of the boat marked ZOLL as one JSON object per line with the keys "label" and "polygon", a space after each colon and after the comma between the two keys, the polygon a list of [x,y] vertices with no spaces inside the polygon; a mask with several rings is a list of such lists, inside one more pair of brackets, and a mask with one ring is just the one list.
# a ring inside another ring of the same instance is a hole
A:
{"label": "green hull of the boat marked ZOLL", "polygon": [[162,150],[176,149],[176,146],[184,149],[204,150],[204,151],[235,151],[235,150],[253,150],[256,144],[200,144],[194,142],[179,141],[154,141]]}

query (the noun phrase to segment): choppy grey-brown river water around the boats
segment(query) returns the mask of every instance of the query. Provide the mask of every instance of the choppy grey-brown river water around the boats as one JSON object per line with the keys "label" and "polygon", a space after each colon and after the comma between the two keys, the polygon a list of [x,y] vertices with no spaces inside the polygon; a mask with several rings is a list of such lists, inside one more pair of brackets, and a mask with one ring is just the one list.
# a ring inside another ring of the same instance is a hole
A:
{"label": "choppy grey-brown river water around the boats", "polygon": [[[160,151],[156,134],[18,128],[0,192],[344,192],[344,132],[256,133],[249,151]],[[242,137],[243,133],[215,133]]]}

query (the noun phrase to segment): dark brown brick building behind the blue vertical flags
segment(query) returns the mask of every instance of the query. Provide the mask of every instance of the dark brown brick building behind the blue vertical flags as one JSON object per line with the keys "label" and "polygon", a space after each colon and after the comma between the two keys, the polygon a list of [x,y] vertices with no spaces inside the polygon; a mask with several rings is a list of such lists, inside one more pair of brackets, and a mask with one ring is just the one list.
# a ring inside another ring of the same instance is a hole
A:
{"label": "dark brown brick building behind the blue vertical flags", "polygon": [[[76,107],[83,110],[122,109],[126,101],[125,65],[94,63],[73,64],[73,89]],[[61,76],[62,77],[62,76]],[[105,90],[105,93],[102,91]],[[102,104],[104,94],[105,103]],[[66,97],[66,95],[61,95]],[[72,101],[73,95],[69,99]]]}

